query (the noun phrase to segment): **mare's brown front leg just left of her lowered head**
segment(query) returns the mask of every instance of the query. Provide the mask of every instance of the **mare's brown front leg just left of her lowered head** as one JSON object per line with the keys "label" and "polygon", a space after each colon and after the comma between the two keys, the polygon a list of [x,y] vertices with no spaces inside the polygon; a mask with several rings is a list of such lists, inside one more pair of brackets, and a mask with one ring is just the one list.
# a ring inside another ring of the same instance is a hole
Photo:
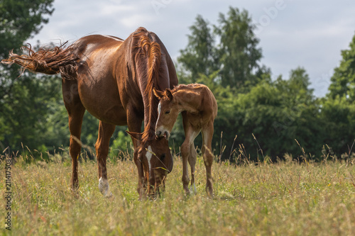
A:
{"label": "mare's brown front leg just left of her lowered head", "polygon": [[[136,133],[141,133],[141,125],[142,125],[142,118],[138,118],[139,116],[133,112],[133,108],[128,108],[127,109],[127,126],[129,128],[129,131],[136,132]],[[144,193],[144,173],[143,173],[143,164],[140,159],[138,159],[138,151],[139,151],[139,141],[131,137],[132,142],[133,142],[133,147],[134,147],[134,154],[133,154],[133,160],[134,163],[136,164],[137,170],[138,170],[138,186],[137,186],[137,191],[139,194],[139,199],[143,197]]]}

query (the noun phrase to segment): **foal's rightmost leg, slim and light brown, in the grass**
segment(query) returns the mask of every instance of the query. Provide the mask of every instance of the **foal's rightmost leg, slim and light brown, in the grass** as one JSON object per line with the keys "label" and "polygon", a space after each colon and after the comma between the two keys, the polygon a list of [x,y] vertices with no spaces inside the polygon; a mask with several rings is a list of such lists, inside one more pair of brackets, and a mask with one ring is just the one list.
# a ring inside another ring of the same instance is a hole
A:
{"label": "foal's rightmost leg, slim and light brown, in the grass", "polygon": [[204,128],[202,128],[202,155],[204,160],[204,167],[206,167],[206,192],[209,196],[213,196],[213,186],[212,186],[212,136],[214,128],[213,122],[209,122]]}

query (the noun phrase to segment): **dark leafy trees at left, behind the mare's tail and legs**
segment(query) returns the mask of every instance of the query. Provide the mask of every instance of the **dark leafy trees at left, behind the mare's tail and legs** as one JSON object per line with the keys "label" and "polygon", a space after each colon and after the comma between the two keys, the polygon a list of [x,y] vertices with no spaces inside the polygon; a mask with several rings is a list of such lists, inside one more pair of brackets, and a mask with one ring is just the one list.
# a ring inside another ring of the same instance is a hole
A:
{"label": "dark leafy trees at left, behind the mare's tail and legs", "polygon": [[[9,55],[9,50],[18,48],[38,33],[43,23],[48,23],[46,17],[54,11],[52,3],[53,0],[0,2],[1,59]],[[1,64],[0,72],[1,152],[6,147],[10,152],[26,152],[24,146],[39,152],[68,147],[70,133],[60,77],[35,75],[27,71],[21,73],[16,65],[6,67]],[[81,141],[92,150],[97,139],[98,123],[89,113],[84,114]],[[116,128],[113,136],[128,140],[126,132],[122,132],[125,129]],[[113,150],[124,145],[125,142],[115,142]]]}

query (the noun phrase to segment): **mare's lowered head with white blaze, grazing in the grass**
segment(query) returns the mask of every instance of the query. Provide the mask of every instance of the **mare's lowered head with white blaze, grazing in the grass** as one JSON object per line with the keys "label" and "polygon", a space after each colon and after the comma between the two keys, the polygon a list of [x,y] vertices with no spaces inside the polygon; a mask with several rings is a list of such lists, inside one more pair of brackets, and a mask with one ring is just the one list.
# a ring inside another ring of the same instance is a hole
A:
{"label": "mare's lowered head with white blaze, grazing in the grass", "polygon": [[155,196],[165,189],[166,176],[173,170],[173,157],[168,140],[159,137],[143,140],[141,133],[127,133],[140,143],[138,159],[143,165],[144,191],[149,196]]}

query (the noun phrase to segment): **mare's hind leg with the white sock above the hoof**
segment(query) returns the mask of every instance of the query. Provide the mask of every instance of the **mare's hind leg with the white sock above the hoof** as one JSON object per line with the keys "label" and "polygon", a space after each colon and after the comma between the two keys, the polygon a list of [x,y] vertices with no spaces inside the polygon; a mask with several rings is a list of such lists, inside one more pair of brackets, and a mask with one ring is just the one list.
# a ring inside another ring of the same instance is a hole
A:
{"label": "mare's hind leg with the white sock above the hoof", "polygon": [[99,190],[105,197],[112,196],[109,191],[109,181],[107,180],[106,160],[109,154],[109,141],[114,133],[116,125],[104,123],[100,120],[99,123],[99,137],[95,144],[97,154],[97,167],[99,169]]}

